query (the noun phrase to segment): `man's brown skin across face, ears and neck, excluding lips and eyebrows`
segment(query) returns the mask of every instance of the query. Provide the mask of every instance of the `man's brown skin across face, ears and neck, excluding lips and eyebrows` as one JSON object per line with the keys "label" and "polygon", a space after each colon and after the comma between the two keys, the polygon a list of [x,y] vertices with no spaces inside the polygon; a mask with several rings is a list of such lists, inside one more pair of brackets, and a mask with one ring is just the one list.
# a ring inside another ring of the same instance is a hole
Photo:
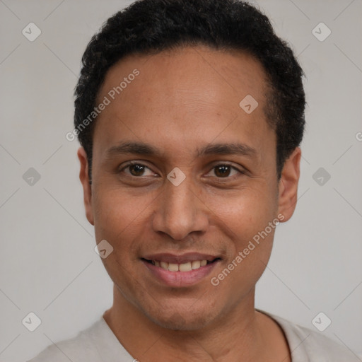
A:
{"label": "man's brown skin across face, ears and neck, excluding lips and eyebrows", "polygon": [[[102,259],[115,285],[105,321],[139,361],[291,361],[279,325],[255,310],[274,229],[218,286],[210,282],[296,206],[300,148],[278,180],[264,69],[243,52],[204,46],[133,55],[107,72],[98,103],[134,69],[139,76],[96,121],[91,185],[86,153],[78,150],[86,216],[97,243],[114,248]],[[259,103],[250,114],[239,106],[248,94]],[[160,154],[107,153],[122,141],[144,142]],[[254,153],[197,155],[210,144],[237,142]],[[129,160],[145,165],[143,173],[125,168]],[[216,165],[226,163],[237,170],[220,173]],[[167,178],[175,167],[186,176],[178,186]],[[158,252],[200,252],[221,262],[197,284],[170,287],[141,261]]]}

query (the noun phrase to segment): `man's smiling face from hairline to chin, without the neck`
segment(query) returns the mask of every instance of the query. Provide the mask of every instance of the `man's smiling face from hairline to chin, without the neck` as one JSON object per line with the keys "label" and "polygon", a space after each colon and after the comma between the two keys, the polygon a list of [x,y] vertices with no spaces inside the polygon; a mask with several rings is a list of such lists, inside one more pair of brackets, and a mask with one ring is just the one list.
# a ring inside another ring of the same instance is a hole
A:
{"label": "man's smiling face from hairline to chin, without the neck", "polygon": [[[103,262],[123,298],[163,327],[198,329],[252,303],[274,238],[267,226],[293,212],[281,207],[266,91],[259,62],[207,47],[131,56],[107,72],[91,189],[82,165],[86,214],[97,243],[114,248]],[[252,112],[239,105],[247,95]]]}

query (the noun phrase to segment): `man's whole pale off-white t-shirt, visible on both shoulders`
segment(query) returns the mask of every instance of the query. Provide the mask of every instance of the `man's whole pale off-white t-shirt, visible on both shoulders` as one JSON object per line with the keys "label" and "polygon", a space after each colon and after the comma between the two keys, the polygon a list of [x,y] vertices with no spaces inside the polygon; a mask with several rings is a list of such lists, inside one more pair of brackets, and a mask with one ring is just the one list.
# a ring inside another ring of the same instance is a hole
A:
{"label": "man's whole pale off-white t-shirt, visible on both shoulders", "polygon": [[[262,311],[261,311],[262,312]],[[284,330],[292,354],[292,362],[358,362],[345,346],[319,332],[293,325],[281,317],[270,315]],[[119,343],[107,322],[100,317],[88,329],[72,339],[52,344],[28,362],[134,362]]]}

